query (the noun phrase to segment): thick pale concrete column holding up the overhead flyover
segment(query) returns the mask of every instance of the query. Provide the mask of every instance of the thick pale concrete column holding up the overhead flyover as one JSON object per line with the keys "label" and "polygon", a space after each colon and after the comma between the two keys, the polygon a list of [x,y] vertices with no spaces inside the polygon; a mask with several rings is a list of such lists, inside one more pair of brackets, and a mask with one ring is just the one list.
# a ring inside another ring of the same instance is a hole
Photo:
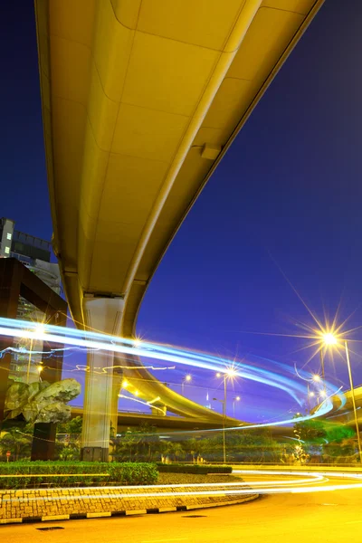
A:
{"label": "thick pale concrete column holding up the overhead flyover", "polygon": [[[122,298],[84,298],[87,326],[105,334],[118,335],[123,304]],[[88,354],[81,433],[81,459],[85,461],[109,461],[113,357],[111,351],[90,351]]]}

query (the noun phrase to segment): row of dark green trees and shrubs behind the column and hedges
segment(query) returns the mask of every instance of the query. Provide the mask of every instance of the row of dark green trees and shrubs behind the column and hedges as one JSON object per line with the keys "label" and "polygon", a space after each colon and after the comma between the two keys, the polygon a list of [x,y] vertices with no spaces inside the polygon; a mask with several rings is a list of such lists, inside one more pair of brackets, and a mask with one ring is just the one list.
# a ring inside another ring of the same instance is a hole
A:
{"label": "row of dark green trees and shrubs behind the column and hedges", "polygon": [[[294,424],[294,440],[276,441],[268,430],[225,433],[227,463],[337,463],[358,461],[355,431],[345,424],[310,420]],[[143,424],[116,435],[110,428],[110,462],[162,462],[163,464],[223,463],[223,433],[197,437],[177,434],[162,437],[155,426]],[[0,462],[30,460],[33,425],[8,426],[0,434]],[[6,452],[10,453],[6,456]],[[58,424],[55,460],[80,462],[81,417]]]}

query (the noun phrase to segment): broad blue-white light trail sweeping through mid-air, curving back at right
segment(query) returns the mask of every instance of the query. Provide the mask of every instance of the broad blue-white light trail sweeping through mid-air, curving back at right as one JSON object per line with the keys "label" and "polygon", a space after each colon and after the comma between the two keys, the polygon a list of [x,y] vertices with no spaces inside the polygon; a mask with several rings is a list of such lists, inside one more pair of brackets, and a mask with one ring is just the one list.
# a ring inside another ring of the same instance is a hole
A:
{"label": "broad blue-white light trail sweeping through mid-air, curving back at right", "polygon": [[[240,376],[243,379],[252,380],[262,383],[267,386],[278,388],[283,393],[290,395],[299,405],[303,405],[305,399],[305,386],[302,383],[291,378],[288,375],[271,372],[270,370],[261,367],[253,367],[242,363],[236,364],[233,360],[225,357],[215,357],[213,355],[193,352],[191,350],[183,350],[181,348],[173,348],[164,345],[149,343],[147,341],[139,341],[139,339],[119,338],[101,334],[99,332],[84,331],[78,329],[62,328],[58,326],[42,324],[39,326],[37,322],[29,322],[26,320],[5,319],[0,318],[0,336],[10,338],[29,338],[33,340],[43,340],[47,343],[62,344],[69,350],[70,348],[92,349],[111,351],[121,353],[123,355],[138,356],[142,358],[157,359],[172,364],[179,364],[187,367],[197,367],[200,369],[211,370],[213,372],[225,372],[228,369],[233,369],[234,376]],[[54,349],[54,352],[59,348]],[[6,350],[6,349],[5,349]],[[3,351],[4,354],[5,351]],[[26,349],[23,352],[29,352]],[[48,353],[49,354],[49,351]],[[117,366],[119,367],[119,366]],[[143,367],[143,365],[139,365]],[[149,366],[152,369],[161,369],[161,367]],[[290,372],[291,368],[278,363],[285,373]],[[86,370],[86,367],[79,367]],[[137,366],[136,366],[137,368]],[[175,368],[175,366],[167,367],[167,369]],[[107,370],[113,370],[110,366]],[[131,369],[131,367],[129,367]],[[166,369],[165,367],[162,369]],[[314,414],[300,415],[272,423],[248,424],[245,428],[260,428],[271,425],[295,424],[296,422],[305,421],[310,418],[318,417],[322,414],[327,414],[332,409],[333,405],[330,401],[332,395],[338,394],[339,390],[336,386],[327,384],[331,394],[319,405],[318,410]],[[228,428],[230,430],[241,430],[243,427],[236,426]]]}

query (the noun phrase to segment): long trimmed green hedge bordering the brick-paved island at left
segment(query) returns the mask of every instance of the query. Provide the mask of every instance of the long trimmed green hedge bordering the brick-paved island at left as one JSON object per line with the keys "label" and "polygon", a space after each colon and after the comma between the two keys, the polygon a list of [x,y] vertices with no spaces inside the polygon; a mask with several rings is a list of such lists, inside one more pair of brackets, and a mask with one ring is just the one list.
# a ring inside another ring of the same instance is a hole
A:
{"label": "long trimmed green hedge bordering the brick-paved island at left", "polygon": [[8,462],[0,489],[154,484],[156,464],[136,462]]}

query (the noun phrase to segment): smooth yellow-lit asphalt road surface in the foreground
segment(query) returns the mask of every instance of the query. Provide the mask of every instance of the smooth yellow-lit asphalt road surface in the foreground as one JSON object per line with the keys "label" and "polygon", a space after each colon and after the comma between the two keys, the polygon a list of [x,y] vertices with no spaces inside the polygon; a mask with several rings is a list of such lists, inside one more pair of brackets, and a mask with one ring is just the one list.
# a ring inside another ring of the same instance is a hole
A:
{"label": "smooth yellow-lit asphalt road surface in the foreground", "polygon": [[[39,530],[48,527],[62,529]],[[0,538],[2,543],[362,543],[362,489],[266,495],[243,505],[187,512],[8,525],[0,527]]]}

